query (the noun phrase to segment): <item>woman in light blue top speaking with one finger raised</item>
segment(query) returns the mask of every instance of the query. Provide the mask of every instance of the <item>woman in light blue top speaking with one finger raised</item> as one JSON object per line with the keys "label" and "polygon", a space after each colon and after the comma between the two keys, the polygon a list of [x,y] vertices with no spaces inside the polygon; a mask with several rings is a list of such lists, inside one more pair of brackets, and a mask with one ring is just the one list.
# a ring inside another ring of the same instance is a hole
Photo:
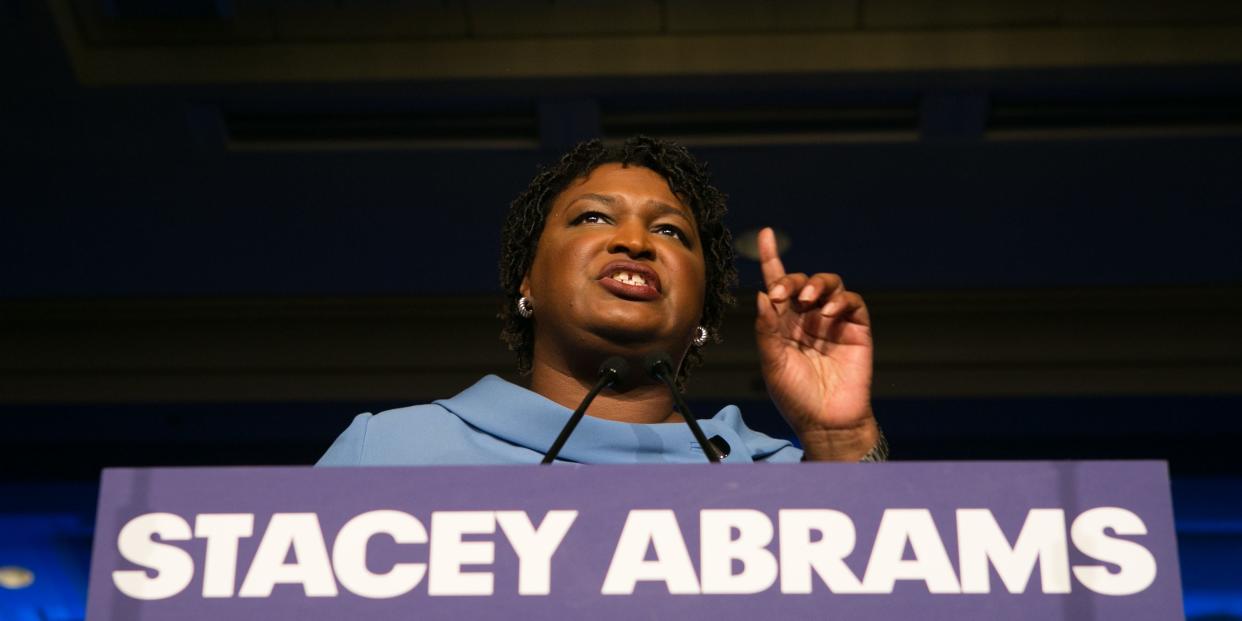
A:
{"label": "woman in light blue top speaking with one finger raised", "polygon": [[[529,389],[489,375],[452,399],[359,415],[319,465],[535,463],[606,358],[637,369],[668,351],[684,384],[733,302],[724,212],[724,196],[681,147],[643,137],[579,144],[532,180],[504,224],[502,335]],[[734,406],[700,421],[704,433],[729,447],[725,462],[883,460],[866,304],[836,274],[786,273],[771,230],[759,250],[760,366],[802,450],[749,430]],[[560,460],[705,461],[661,384],[631,380],[587,414]]]}

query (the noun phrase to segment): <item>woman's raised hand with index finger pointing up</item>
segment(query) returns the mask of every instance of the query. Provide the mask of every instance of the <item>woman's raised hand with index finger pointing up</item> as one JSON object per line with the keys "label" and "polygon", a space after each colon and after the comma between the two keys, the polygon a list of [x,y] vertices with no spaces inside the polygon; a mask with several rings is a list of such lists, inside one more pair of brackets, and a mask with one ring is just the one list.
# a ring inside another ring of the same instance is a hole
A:
{"label": "woman's raised hand with index finger pointing up", "polygon": [[759,232],[759,260],[768,291],[755,340],[768,394],[807,460],[858,461],[879,440],[867,306],[837,274],[785,273],[771,229]]}

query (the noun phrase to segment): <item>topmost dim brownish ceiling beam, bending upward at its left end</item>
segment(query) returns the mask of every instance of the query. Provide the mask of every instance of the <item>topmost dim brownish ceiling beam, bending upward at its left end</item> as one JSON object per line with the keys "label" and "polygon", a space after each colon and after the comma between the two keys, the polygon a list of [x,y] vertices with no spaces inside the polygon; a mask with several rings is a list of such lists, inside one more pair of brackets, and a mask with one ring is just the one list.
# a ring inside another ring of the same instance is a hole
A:
{"label": "topmost dim brownish ceiling beam, bending upward at its left end", "polygon": [[739,76],[1242,63],[1240,25],[427,37],[322,42],[92,42],[52,12],[86,86]]}

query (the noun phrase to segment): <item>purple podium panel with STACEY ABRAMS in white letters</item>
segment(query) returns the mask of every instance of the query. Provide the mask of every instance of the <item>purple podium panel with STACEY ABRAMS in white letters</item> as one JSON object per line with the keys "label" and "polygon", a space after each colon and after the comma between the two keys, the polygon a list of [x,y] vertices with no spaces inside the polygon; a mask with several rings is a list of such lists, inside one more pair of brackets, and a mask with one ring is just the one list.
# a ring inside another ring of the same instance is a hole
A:
{"label": "purple podium panel with STACEY ABRAMS in white letters", "polygon": [[103,473],[87,619],[1177,620],[1164,462]]}

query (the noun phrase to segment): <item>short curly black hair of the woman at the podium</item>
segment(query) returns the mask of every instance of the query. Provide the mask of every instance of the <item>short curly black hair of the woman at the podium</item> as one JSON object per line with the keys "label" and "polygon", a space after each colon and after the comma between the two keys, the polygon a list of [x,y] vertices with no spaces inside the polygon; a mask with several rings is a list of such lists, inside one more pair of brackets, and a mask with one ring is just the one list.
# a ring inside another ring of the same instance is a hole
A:
{"label": "short curly black hair of the woman at the podium", "polygon": [[[543,168],[530,180],[530,185],[509,205],[501,230],[501,289],[504,291],[499,313],[503,323],[501,338],[517,353],[518,371],[522,374],[530,371],[534,329],[529,319],[517,313],[517,302],[522,297],[522,279],[534,262],[548,209],[571,183],[586,178],[602,164],[614,163],[658,173],[694,214],[707,263],[702,325],[714,340],[719,340],[725,309],[734,303],[732,288],[738,282],[738,270],[734,266],[733,235],[724,225],[725,196],[712,185],[707,166],[684,147],[657,138],[638,135],[621,144],[587,140],[570,149],[556,164]],[[700,347],[691,345],[678,370],[678,384],[684,385],[689,370],[702,364],[699,350]]]}

